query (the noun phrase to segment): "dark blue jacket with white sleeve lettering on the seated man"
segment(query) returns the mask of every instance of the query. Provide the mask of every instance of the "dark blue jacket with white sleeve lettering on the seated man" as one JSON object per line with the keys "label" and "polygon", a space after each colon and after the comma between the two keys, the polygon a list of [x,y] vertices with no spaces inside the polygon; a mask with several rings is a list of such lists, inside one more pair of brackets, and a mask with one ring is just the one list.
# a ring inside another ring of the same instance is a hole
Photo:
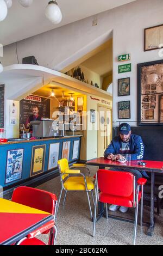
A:
{"label": "dark blue jacket with white sleeve lettering on the seated man", "polygon": [[[108,148],[104,152],[104,157],[107,157],[109,154],[120,154],[120,148],[121,148],[121,138],[120,136],[115,137],[110,142]],[[131,134],[130,140],[129,140],[129,148],[131,154],[131,160],[142,160],[144,155],[145,146],[143,144],[142,138],[139,135]],[[148,177],[147,173],[144,171],[141,171],[143,176]]]}

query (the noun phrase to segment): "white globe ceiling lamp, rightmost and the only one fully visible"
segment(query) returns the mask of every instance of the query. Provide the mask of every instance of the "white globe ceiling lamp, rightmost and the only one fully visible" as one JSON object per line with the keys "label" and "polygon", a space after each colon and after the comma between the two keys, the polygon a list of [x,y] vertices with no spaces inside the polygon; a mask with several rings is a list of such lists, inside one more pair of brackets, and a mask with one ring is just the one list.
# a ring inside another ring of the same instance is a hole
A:
{"label": "white globe ceiling lamp, rightmost and the only one fully visible", "polygon": [[59,22],[61,22],[62,14],[56,1],[49,1],[45,10],[45,15],[47,19],[54,24],[58,24]]}

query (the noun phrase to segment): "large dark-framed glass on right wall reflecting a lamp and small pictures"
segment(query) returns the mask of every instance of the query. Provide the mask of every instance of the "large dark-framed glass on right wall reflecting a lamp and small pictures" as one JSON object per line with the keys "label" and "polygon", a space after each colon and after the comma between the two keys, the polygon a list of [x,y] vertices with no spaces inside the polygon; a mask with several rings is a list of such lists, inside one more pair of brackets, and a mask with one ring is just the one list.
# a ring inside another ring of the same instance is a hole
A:
{"label": "large dark-framed glass on right wall reflecting a lamp and small pictures", "polygon": [[163,60],[138,64],[137,81],[138,125],[163,125]]}

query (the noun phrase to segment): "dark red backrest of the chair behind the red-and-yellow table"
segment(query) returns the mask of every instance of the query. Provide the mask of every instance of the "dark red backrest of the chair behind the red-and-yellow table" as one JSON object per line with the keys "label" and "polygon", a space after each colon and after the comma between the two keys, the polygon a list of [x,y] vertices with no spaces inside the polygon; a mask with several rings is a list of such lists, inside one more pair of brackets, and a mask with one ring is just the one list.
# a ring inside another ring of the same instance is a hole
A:
{"label": "dark red backrest of the chair behind the red-and-yellow table", "polygon": [[33,187],[17,187],[12,194],[12,202],[23,204],[41,211],[55,214],[57,197],[55,194]]}

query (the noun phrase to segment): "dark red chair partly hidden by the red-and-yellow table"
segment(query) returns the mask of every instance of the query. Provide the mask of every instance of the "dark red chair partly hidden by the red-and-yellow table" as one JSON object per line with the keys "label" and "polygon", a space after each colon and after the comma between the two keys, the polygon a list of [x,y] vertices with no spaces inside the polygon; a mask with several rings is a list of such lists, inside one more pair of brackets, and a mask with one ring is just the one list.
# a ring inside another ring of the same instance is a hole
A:
{"label": "dark red chair partly hidden by the red-and-yellow table", "polygon": [[57,208],[57,197],[55,194],[38,190],[32,187],[17,187],[12,194],[12,202],[23,204],[41,211],[49,212],[54,215],[54,220],[42,225],[26,237],[16,243],[16,245],[46,245],[35,236],[49,234],[48,245],[55,245],[57,227],[55,226],[55,212]]}

